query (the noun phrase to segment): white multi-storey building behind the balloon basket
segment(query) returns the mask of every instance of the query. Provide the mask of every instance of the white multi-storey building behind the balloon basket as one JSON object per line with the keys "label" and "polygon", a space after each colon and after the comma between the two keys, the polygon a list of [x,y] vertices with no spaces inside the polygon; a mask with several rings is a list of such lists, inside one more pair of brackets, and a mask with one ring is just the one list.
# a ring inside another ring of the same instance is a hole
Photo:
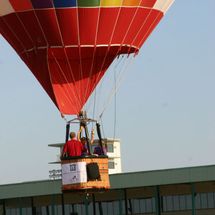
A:
{"label": "white multi-storey building behind the balloon basket", "polygon": [[[121,166],[121,151],[120,151],[120,140],[119,139],[110,139],[105,138],[103,139],[104,144],[107,146],[107,155],[109,158],[108,161],[108,168],[109,174],[121,173],[122,166]],[[96,146],[98,146],[99,141],[95,140],[92,144],[92,152]],[[56,143],[56,144],[49,144],[50,147],[57,147],[59,148],[59,153],[56,156],[56,161],[52,163],[60,163],[60,154],[63,149],[64,143]]]}

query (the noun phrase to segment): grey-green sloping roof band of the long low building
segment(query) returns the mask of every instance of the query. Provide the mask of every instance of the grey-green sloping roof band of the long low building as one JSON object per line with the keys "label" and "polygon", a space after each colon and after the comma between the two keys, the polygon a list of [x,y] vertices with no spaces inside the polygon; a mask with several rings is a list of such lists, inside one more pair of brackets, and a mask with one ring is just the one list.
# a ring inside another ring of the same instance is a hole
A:
{"label": "grey-green sloping roof band of the long low building", "polygon": [[[170,185],[215,180],[215,165],[110,175],[111,189]],[[0,185],[0,199],[61,193],[61,180]]]}

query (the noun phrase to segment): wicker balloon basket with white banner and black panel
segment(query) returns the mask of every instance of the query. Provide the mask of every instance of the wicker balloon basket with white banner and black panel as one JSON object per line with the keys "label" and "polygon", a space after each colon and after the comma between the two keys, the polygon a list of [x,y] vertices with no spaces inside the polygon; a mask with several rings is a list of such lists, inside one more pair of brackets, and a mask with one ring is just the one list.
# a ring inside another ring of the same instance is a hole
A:
{"label": "wicker balloon basket with white banner and black panel", "polygon": [[[107,156],[72,157],[70,159],[62,160],[61,165],[62,190],[64,192],[107,190],[110,188]],[[68,169],[68,167],[74,167],[76,165],[80,165],[81,167],[79,168],[81,170],[72,173],[73,175],[64,170],[65,167]],[[79,180],[72,181],[72,176],[73,178],[78,177]],[[95,176],[95,178],[93,178],[92,176]],[[65,178],[67,180],[65,180]]]}

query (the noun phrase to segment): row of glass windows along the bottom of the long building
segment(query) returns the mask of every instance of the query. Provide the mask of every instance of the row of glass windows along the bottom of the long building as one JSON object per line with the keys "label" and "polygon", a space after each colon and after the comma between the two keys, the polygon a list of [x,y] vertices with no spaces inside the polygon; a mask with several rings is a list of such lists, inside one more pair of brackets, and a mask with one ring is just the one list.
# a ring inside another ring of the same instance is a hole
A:
{"label": "row of glass windows along the bottom of the long building", "polygon": [[[197,193],[192,199],[192,195],[171,195],[160,197],[160,210],[162,212],[171,211],[186,211],[192,209],[192,204],[195,204],[196,209],[211,209],[215,208],[215,193]],[[93,203],[88,202],[87,204],[65,204],[64,212],[65,215],[91,215],[94,210],[96,214],[102,215],[119,215],[126,214],[126,208],[128,214],[147,214],[156,212],[156,199],[152,198],[133,198],[116,201],[96,202],[95,208]],[[10,208],[6,207],[6,215],[62,215],[61,205],[48,205],[42,207],[31,207],[26,208]],[[0,214],[3,211],[0,205]]]}

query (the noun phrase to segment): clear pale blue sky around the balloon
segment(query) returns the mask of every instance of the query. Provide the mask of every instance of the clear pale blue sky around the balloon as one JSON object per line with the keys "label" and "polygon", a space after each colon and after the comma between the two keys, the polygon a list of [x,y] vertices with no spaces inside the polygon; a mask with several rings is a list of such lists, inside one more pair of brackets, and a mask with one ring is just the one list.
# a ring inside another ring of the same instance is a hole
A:
{"label": "clear pale blue sky around the balloon", "polygon": [[[175,0],[129,64],[102,119],[121,140],[123,172],[215,164],[214,11],[214,0]],[[58,168],[48,144],[64,136],[57,108],[0,37],[0,184],[48,179]]]}

